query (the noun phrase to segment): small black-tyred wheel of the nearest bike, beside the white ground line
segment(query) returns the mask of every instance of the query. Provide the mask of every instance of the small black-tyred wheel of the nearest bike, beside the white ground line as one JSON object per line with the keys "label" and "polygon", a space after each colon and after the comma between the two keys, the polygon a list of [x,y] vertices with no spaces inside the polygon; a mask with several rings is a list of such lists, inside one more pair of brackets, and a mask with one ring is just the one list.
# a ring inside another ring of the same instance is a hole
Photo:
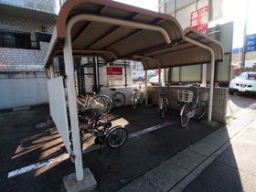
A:
{"label": "small black-tyred wheel of the nearest bike, beside the white ground line", "polygon": [[106,143],[111,148],[117,148],[123,145],[126,140],[127,131],[122,126],[116,126],[107,135]]}

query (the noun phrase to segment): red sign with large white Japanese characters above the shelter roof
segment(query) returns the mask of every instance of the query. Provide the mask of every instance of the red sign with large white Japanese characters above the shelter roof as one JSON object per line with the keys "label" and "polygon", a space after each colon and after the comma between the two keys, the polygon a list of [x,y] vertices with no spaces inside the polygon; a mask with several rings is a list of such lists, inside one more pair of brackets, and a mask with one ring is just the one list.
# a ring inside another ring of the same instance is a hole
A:
{"label": "red sign with large white Japanese characters above the shelter roof", "polygon": [[198,31],[208,35],[208,6],[191,13],[190,27],[197,28]]}

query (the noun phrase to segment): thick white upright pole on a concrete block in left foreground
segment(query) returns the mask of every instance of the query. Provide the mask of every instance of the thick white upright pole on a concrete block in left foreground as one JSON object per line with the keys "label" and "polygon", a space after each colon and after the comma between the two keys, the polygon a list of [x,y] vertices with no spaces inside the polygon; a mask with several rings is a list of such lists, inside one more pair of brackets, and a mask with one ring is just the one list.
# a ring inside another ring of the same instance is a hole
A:
{"label": "thick white upright pole on a concrete block in left foreground", "polygon": [[74,77],[74,62],[72,55],[72,44],[71,44],[71,27],[74,23],[69,22],[66,28],[67,37],[65,38],[64,43],[64,62],[67,75],[67,90],[68,90],[68,99],[69,99],[69,118],[71,125],[72,133],[72,142],[74,146],[74,155],[75,155],[75,169],[76,177],[78,181],[82,181],[84,178],[83,175],[83,166],[81,158],[81,149],[80,149],[80,129],[78,122],[78,109],[77,109],[77,93],[75,89],[75,77]]}

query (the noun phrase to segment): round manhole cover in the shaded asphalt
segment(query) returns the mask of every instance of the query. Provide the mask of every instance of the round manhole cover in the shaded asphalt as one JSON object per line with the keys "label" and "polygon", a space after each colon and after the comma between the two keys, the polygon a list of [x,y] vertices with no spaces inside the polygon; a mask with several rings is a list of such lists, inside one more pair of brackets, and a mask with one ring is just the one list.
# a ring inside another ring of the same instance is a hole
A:
{"label": "round manhole cover in the shaded asphalt", "polygon": [[171,144],[155,139],[146,143],[146,148],[156,155],[167,155],[173,151]]}

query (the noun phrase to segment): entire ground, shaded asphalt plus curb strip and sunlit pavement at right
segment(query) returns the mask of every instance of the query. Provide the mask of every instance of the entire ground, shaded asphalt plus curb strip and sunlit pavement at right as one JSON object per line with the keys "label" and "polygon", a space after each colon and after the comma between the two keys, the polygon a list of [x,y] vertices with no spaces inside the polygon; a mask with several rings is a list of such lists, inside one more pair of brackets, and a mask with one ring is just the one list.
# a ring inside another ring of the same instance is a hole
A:
{"label": "entire ground, shaded asphalt plus curb strip and sunlit pavement at right", "polygon": [[[255,191],[255,109],[252,101],[227,125],[191,120],[187,128],[175,110],[161,120],[155,106],[113,109],[110,120],[129,138],[120,149],[85,146],[92,191]],[[0,113],[1,190],[65,191],[75,167],[48,115],[48,105]]]}

